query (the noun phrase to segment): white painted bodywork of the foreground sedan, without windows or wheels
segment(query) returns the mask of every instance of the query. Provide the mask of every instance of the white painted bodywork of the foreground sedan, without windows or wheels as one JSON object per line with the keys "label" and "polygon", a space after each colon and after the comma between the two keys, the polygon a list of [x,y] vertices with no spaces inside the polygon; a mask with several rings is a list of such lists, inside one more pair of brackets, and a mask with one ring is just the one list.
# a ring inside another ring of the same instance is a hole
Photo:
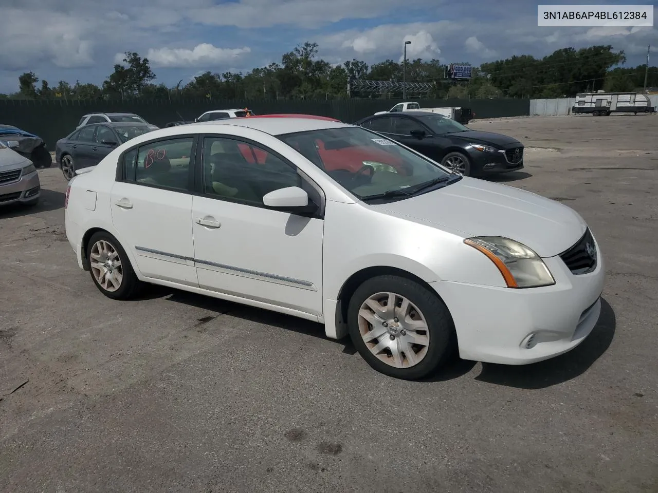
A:
{"label": "white painted bodywork of the foreground sedan, without windows or wheels", "polygon": [[[336,317],[345,281],[378,266],[407,271],[440,294],[466,359],[527,364],[569,351],[590,333],[600,302],[580,317],[603,289],[600,251],[595,271],[584,275],[572,275],[557,256],[587,227],[578,213],[555,200],[468,177],[415,197],[367,204],[276,137],[338,128],[357,130],[326,120],[242,118],[136,137],[104,158],[93,173],[70,182],[68,241],[79,257],[85,231],[101,227],[122,244],[142,280],[319,321],[328,337],[345,335]],[[321,198],[314,200],[321,202],[324,218],[115,181],[123,151],[152,139],[196,133],[243,137],[280,154],[297,166],[303,187],[319,189]],[[442,176],[444,168],[438,164],[393,145],[377,152],[402,155],[418,172],[434,166],[439,168],[436,176]],[[88,190],[97,193],[94,211],[84,206]],[[124,199],[133,207],[115,205]],[[508,288],[492,260],[464,243],[484,236],[509,238],[534,250],[535,262],[545,264],[555,283]],[[522,348],[522,340],[537,330],[543,334],[538,344]]]}

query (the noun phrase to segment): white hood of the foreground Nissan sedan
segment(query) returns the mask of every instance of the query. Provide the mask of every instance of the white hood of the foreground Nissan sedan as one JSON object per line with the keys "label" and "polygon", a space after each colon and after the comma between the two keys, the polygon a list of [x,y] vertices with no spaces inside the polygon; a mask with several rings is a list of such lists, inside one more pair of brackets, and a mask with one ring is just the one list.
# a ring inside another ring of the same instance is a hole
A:
{"label": "white hood of the foreground Nissan sedan", "polygon": [[372,207],[462,231],[465,238],[513,239],[542,257],[569,249],[587,229],[583,218],[560,202],[470,177],[417,197]]}

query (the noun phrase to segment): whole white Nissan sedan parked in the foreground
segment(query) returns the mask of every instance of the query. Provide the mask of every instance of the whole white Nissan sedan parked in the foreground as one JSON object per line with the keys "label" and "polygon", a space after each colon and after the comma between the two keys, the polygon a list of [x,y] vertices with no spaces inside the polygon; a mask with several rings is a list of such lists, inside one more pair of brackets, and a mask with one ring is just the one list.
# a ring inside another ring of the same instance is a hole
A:
{"label": "whole white Nissan sedan parked in the foreground", "polygon": [[153,283],[318,321],[403,379],[455,348],[552,358],[601,312],[603,259],[574,210],[336,121],[136,137],[70,181],[66,235],[109,298]]}

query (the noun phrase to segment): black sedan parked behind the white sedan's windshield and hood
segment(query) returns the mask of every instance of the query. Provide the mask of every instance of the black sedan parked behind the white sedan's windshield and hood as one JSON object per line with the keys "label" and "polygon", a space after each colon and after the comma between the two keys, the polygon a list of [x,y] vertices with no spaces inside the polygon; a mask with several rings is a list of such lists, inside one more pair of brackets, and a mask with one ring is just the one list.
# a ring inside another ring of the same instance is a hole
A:
{"label": "black sedan parked behind the white sedan's windshield and hood", "polygon": [[474,131],[440,114],[425,111],[380,114],[362,118],[355,125],[382,133],[466,176],[523,168],[523,145],[517,139]]}

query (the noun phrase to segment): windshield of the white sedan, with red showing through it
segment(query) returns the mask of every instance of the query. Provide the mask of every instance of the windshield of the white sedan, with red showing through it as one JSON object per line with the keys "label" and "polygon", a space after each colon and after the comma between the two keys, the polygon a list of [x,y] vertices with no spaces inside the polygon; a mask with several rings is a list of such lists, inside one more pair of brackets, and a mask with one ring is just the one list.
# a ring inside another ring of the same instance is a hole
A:
{"label": "windshield of the white sedan, with red showing through it", "polygon": [[403,199],[420,193],[419,185],[436,179],[459,179],[365,128],[305,131],[279,138],[359,199],[379,199],[385,193]]}

